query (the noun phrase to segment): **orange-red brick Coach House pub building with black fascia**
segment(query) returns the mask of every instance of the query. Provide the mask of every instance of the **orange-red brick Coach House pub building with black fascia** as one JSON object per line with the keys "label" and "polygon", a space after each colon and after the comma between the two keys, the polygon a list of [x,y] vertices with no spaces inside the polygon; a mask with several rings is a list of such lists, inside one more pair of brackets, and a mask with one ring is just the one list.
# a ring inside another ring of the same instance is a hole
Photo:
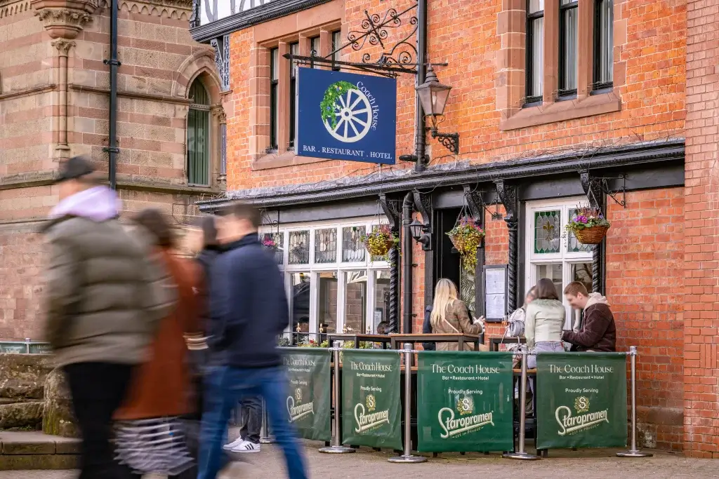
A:
{"label": "orange-red brick Coach House pub building with black fascia", "polygon": [[[418,331],[440,277],[485,312],[482,266],[507,265],[508,311],[537,279],[580,280],[608,296],[620,348],[640,350],[641,443],[719,457],[718,0],[239,4],[201,2],[191,32],[229,43],[227,189],[265,209],[291,329],[356,328],[361,293],[362,329],[388,320]],[[400,22],[381,42],[360,41],[392,12]],[[435,68],[452,86],[441,131],[459,133],[459,154],[416,136],[416,78],[399,75],[397,155],[426,143],[426,168],[298,156],[296,70],[283,55],[344,68],[336,62],[397,60],[403,39],[408,63],[426,47],[429,62],[448,64]],[[564,233],[579,203],[612,223],[597,248]],[[487,231],[474,274],[445,234],[463,211]],[[407,238],[403,214],[428,227],[431,247]],[[380,222],[403,236],[401,258],[362,253],[359,236]]]}

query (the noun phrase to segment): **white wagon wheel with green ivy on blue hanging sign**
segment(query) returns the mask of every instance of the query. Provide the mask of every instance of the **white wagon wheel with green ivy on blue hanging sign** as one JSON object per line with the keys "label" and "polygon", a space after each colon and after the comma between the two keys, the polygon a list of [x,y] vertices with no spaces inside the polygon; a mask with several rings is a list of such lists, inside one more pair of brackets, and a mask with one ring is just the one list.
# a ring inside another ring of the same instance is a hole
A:
{"label": "white wagon wheel with green ivy on blue hanging sign", "polygon": [[363,139],[372,126],[372,106],[365,93],[352,83],[338,81],[329,85],[320,103],[327,132],[343,143]]}

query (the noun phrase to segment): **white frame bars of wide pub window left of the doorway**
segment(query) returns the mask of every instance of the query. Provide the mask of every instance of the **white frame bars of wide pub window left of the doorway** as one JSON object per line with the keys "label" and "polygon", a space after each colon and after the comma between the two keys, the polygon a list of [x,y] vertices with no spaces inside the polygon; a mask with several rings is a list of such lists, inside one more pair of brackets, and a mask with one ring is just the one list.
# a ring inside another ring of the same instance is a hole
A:
{"label": "white frame bars of wide pub window left of the doorway", "polygon": [[[375,325],[372,318],[375,311],[375,292],[376,292],[376,271],[390,271],[388,261],[372,261],[369,252],[365,254],[363,261],[342,261],[342,229],[347,227],[365,226],[365,231],[371,231],[372,226],[378,224],[377,218],[355,218],[342,221],[328,220],[317,221],[313,223],[290,223],[278,227],[260,228],[260,237],[265,233],[283,233],[283,264],[278,265],[285,279],[285,291],[288,295],[288,307],[290,322],[285,327],[285,332],[293,333],[291,330],[293,325],[293,294],[292,294],[292,274],[307,273],[310,275],[310,305],[309,305],[309,331],[308,337],[318,339],[319,332],[319,279],[321,273],[336,272],[337,276],[337,311],[336,311],[336,328],[338,332],[342,332],[346,319],[346,289],[347,273],[352,271],[367,272],[367,297],[365,298],[365,328],[369,324],[372,331],[375,331]],[[386,220],[380,218],[379,224],[387,224]],[[336,230],[336,257],[332,263],[316,263],[315,261],[315,233],[323,229]],[[289,241],[290,232],[292,231],[309,231],[309,259],[307,264],[288,264],[289,259]],[[387,318],[384,318],[387,320]],[[324,331],[326,333],[326,331]],[[364,333],[365,331],[361,331]]]}

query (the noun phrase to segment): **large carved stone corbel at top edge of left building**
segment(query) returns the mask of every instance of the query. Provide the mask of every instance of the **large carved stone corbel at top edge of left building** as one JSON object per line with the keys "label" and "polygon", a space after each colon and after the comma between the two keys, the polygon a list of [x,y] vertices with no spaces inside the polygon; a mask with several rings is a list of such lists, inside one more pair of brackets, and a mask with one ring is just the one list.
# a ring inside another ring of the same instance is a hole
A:
{"label": "large carved stone corbel at top edge of left building", "polygon": [[30,4],[50,37],[64,39],[77,37],[98,8],[97,0],[32,0]]}

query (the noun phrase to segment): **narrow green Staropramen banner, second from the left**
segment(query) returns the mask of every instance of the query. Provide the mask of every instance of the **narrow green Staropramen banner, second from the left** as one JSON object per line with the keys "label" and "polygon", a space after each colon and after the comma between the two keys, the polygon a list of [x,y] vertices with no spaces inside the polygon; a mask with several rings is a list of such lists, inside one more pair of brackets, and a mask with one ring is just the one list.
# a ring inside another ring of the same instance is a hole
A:
{"label": "narrow green Staropramen banner, second from the left", "polygon": [[342,352],[342,444],[402,449],[400,355]]}

